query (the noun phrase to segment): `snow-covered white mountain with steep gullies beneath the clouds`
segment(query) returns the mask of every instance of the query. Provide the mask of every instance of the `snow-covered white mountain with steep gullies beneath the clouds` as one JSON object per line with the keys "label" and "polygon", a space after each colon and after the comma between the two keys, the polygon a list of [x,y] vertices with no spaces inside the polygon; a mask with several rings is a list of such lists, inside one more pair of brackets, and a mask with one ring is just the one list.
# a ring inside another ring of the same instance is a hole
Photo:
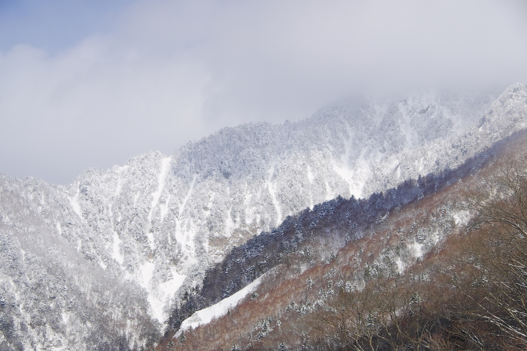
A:
{"label": "snow-covered white mountain with steep gullies beneath the clouds", "polygon": [[[346,100],[85,171],[0,175],[0,348],[141,347],[235,245],[289,214],[460,165],[527,126],[527,87]],[[7,346],[6,346],[7,347]]]}

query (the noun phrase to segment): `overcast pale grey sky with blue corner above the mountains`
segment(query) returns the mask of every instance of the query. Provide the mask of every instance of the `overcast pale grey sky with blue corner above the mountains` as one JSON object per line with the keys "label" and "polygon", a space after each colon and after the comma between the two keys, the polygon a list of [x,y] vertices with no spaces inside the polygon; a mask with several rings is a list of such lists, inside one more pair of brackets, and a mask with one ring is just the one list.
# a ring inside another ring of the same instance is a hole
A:
{"label": "overcast pale grey sky with blue corner above the mountains", "polygon": [[527,83],[524,3],[0,0],[0,172],[67,184],[354,93]]}

